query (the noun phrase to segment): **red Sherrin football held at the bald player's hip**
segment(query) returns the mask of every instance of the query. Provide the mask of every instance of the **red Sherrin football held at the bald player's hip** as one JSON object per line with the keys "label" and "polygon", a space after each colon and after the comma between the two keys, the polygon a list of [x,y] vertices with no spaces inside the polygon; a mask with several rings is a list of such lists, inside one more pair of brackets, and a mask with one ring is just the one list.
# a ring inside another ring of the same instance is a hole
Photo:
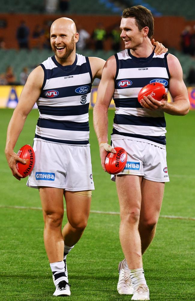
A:
{"label": "red Sherrin football held at the bald player's hip", "polygon": [[22,164],[20,162],[16,163],[18,172],[23,176],[23,178],[26,178],[32,172],[35,164],[35,152],[29,144],[26,144],[19,149],[17,155],[26,161],[26,164]]}

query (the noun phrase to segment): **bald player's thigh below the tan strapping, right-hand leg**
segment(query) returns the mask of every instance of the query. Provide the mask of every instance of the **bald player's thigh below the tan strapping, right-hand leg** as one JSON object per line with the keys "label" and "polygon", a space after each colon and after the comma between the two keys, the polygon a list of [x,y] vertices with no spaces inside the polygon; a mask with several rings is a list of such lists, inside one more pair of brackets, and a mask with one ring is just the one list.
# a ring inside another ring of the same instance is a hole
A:
{"label": "bald player's thigh below the tan strapping, right-hand leg", "polygon": [[91,197],[74,194],[71,191],[64,191],[64,197],[70,225],[85,228],[90,213]]}

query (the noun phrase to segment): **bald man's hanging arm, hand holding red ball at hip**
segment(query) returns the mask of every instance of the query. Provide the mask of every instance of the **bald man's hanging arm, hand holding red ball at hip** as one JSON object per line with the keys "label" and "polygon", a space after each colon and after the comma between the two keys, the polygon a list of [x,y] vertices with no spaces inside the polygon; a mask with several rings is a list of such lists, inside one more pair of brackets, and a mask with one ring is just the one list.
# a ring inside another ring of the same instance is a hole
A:
{"label": "bald man's hanging arm, hand holding red ball at hip", "polygon": [[14,152],[16,141],[23,129],[26,117],[32,110],[35,102],[41,93],[41,87],[44,80],[44,71],[41,66],[37,67],[29,75],[27,82],[22,90],[17,107],[10,119],[7,128],[7,141],[5,146],[5,155],[12,174],[20,180],[22,177],[16,169],[16,162],[25,163]]}

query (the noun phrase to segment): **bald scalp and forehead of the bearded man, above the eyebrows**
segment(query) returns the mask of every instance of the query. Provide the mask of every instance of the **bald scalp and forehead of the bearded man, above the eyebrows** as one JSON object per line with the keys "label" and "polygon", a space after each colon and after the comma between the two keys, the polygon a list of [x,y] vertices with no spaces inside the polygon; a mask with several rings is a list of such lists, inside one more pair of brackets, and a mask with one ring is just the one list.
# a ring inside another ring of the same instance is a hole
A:
{"label": "bald scalp and forehead of the bearded man, above the eyebrows", "polygon": [[76,25],[74,21],[66,17],[59,18],[52,23],[50,32],[52,33],[53,31],[56,31],[56,29],[68,30],[73,35],[76,33]]}

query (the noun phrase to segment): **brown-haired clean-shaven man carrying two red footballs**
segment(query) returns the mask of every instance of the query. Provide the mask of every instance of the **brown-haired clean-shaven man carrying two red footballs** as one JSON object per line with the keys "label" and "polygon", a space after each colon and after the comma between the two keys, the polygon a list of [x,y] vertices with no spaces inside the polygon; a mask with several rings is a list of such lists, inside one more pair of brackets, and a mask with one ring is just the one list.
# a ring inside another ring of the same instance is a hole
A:
{"label": "brown-haired clean-shaven man carrying two red footballs", "polygon": [[[108,151],[123,147],[128,153],[125,169],[116,180],[120,204],[120,241],[125,259],[119,263],[119,294],[133,294],[131,300],[149,300],[142,254],[155,235],[164,184],[169,182],[166,162],[164,112],[185,115],[189,111],[182,68],[172,54],[155,54],[151,39],[154,20],[151,11],[137,5],[123,11],[121,37],[125,50],[111,56],[103,69],[94,107],[94,127],[105,169]],[[167,92],[161,101],[151,95],[137,99],[140,89],[150,82],[163,82]],[[128,85],[119,85],[128,80]],[[116,112],[107,143],[107,111],[114,99]],[[135,167],[136,166],[136,167]]]}

